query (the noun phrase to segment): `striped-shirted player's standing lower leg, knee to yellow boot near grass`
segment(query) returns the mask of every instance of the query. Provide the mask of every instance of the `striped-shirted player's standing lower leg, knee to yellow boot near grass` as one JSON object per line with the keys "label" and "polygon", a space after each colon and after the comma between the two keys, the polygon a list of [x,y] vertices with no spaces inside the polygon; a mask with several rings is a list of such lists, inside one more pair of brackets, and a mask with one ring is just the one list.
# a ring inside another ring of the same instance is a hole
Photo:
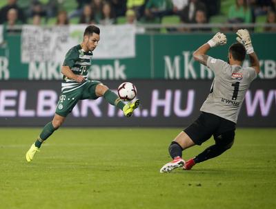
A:
{"label": "striped-shirted player's standing lower leg, knee to yellow boot near grass", "polygon": [[28,162],[32,161],[32,159],[34,158],[34,155],[37,152],[39,152],[39,148],[41,147],[41,144],[43,143],[43,141],[48,139],[48,137],[50,137],[50,135],[52,135],[52,133],[55,132],[55,130],[57,130],[64,121],[65,121],[65,117],[55,114],[54,119],[49,123],[47,123],[46,126],[44,126],[37,141],[35,141],[32,144],[32,146],[30,146],[30,149],[26,153],[26,160]]}

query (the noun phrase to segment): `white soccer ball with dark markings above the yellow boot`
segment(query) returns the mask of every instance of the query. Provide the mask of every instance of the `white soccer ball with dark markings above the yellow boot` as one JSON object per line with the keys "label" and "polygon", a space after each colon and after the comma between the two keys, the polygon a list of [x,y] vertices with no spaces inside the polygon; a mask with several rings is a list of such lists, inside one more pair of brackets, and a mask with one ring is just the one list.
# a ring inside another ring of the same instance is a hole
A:
{"label": "white soccer ball with dark markings above the yellow boot", "polygon": [[118,95],[120,99],[124,101],[130,101],[136,97],[137,89],[133,85],[133,83],[130,82],[124,82],[121,83],[121,85],[118,87]]}

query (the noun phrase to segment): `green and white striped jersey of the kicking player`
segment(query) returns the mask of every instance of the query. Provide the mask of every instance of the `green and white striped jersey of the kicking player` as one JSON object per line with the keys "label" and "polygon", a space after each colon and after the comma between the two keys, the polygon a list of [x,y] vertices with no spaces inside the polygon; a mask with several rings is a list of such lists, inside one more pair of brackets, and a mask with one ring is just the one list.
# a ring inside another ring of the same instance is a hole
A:
{"label": "green and white striped jersey of the kicking player", "polygon": [[86,78],[86,81],[79,83],[73,79],[63,75],[61,83],[61,92],[66,93],[72,90],[76,90],[88,82],[88,70],[92,64],[92,52],[85,52],[81,45],[74,46],[68,50],[66,57],[63,61],[63,66],[68,66],[74,74],[82,75]]}

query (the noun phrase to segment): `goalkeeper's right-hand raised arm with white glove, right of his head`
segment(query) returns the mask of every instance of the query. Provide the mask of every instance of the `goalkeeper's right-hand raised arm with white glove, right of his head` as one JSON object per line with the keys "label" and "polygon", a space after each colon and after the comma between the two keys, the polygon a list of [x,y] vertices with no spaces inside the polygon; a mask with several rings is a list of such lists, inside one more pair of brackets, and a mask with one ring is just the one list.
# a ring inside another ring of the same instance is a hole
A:
{"label": "goalkeeper's right-hand raised arm with white glove, right of his head", "polygon": [[239,29],[237,30],[236,34],[237,34],[237,41],[239,41],[239,43],[242,43],[246,48],[246,53],[248,54],[249,60],[250,60],[250,66],[255,69],[257,74],[259,74],[259,71],[260,71],[259,59],[257,57],[257,54],[254,52],[252,41],[248,30]]}

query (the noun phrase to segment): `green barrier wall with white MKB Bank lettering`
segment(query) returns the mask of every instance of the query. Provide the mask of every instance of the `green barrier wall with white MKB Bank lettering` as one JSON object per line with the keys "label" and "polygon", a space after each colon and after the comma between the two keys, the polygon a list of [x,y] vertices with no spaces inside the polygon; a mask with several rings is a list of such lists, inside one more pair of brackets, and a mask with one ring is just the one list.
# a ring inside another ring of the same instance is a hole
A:
{"label": "green barrier wall with white MKB Bank lettering", "polygon": [[[193,61],[193,51],[210,39],[210,34],[139,34],[136,57],[95,60],[90,79],[213,79],[213,74]],[[227,59],[235,34],[228,44],[210,50],[210,56]],[[276,78],[276,34],[253,34],[253,46],[262,66],[261,79]],[[118,43],[119,44],[119,43]],[[60,79],[60,63],[21,63],[21,37],[9,35],[0,48],[0,79]],[[95,50],[97,53],[97,49]],[[248,60],[244,62],[248,65]]]}

